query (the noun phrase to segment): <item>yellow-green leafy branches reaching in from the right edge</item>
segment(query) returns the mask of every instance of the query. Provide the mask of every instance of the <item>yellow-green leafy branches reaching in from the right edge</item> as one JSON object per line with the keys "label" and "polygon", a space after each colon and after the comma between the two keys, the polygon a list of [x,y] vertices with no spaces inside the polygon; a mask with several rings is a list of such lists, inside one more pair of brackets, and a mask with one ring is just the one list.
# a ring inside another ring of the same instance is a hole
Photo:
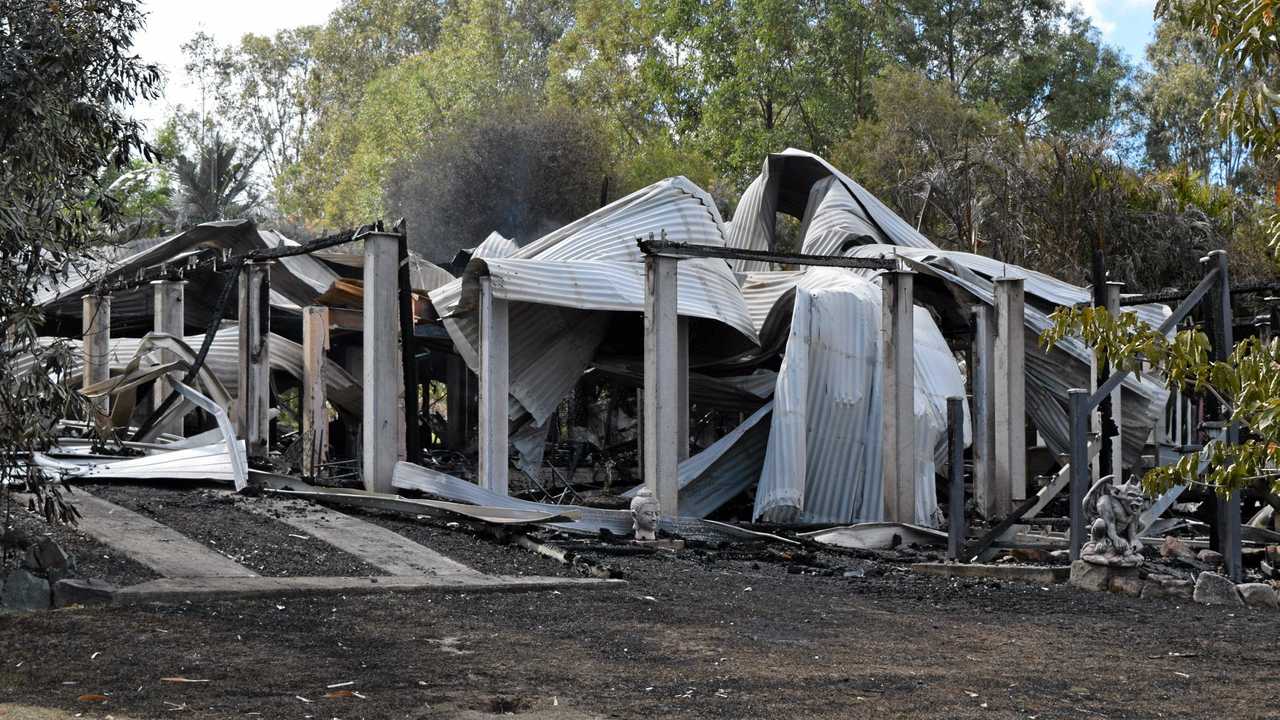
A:
{"label": "yellow-green leafy branches reaching in from the right edge", "polygon": [[[1234,135],[1254,160],[1274,163],[1280,152],[1275,68],[1280,42],[1270,0],[1160,0],[1157,17],[1211,38],[1217,60],[1235,73],[1219,95],[1204,122],[1224,137]],[[1280,240],[1280,218],[1274,214],[1267,232]],[[1219,492],[1253,489],[1268,497],[1280,491],[1280,338],[1248,338],[1226,360],[1210,357],[1210,342],[1199,331],[1165,338],[1140,325],[1133,314],[1119,318],[1105,310],[1060,309],[1053,327],[1042,337],[1051,343],[1066,336],[1083,337],[1115,368],[1146,361],[1170,386],[1203,393],[1220,404],[1228,420],[1242,429],[1236,443],[1210,441],[1207,473],[1197,473],[1198,457],[1147,473],[1144,484],[1160,491],[1179,483],[1204,483]]]}

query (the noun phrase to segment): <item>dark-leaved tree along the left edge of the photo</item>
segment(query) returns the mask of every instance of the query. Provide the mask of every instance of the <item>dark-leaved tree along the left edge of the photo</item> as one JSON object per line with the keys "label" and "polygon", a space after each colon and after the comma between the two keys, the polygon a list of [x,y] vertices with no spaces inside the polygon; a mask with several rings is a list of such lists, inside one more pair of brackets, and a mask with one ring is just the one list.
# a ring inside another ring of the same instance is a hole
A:
{"label": "dark-leaved tree along the left edge of the photo", "polygon": [[81,404],[63,382],[67,346],[38,341],[37,297],[116,219],[104,169],[151,152],[123,110],[159,87],[129,50],[141,27],[129,0],[0,5],[0,478],[26,479],[50,519],[72,511],[22,459],[46,450]]}

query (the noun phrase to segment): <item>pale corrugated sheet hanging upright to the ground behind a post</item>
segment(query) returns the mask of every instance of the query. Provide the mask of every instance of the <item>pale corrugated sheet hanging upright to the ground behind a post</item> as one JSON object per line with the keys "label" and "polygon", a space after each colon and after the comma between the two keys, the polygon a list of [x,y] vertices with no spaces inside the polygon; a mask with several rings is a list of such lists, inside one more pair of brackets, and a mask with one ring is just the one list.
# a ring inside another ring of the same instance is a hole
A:
{"label": "pale corrugated sheet hanging upright to the ground behind a post", "polygon": [[[964,379],[933,318],[916,307],[916,518],[937,523],[934,456],[946,397]],[[796,284],[791,332],[774,389],[755,518],[852,523],[884,516],[882,487],[881,288],[835,268]],[[968,427],[968,425],[966,425]]]}

